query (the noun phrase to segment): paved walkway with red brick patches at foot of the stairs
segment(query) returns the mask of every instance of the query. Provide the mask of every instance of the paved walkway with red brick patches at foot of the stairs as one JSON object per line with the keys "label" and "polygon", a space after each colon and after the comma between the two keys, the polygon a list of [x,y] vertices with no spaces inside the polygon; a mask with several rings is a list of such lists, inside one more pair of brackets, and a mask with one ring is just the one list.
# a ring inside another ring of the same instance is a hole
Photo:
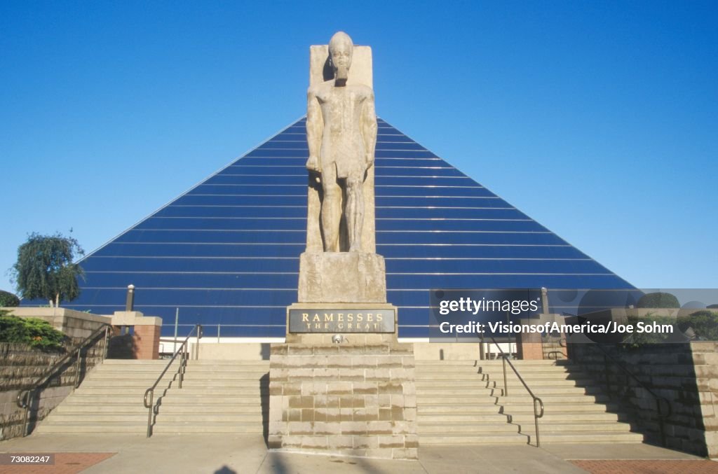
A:
{"label": "paved walkway with red brick patches at foot of the stairs", "polygon": [[718,463],[636,444],[421,447],[417,461],[267,451],[260,436],[32,435],[0,452],[55,453],[54,466],[0,465],[0,473],[718,473]]}

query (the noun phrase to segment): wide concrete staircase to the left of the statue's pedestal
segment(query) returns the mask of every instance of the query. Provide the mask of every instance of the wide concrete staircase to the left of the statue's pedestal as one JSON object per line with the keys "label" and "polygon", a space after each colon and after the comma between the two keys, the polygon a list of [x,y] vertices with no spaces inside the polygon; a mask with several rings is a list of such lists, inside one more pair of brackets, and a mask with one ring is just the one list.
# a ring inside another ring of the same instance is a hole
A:
{"label": "wide concrete staircase to the left of the statue's pedestal", "polygon": [[[269,409],[269,361],[190,361],[182,389],[172,381],[175,364],[154,392],[159,399],[154,434],[262,434]],[[166,360],[107,359],[36,431],[144,435],[149,411],[144,392],[165,366]]]}

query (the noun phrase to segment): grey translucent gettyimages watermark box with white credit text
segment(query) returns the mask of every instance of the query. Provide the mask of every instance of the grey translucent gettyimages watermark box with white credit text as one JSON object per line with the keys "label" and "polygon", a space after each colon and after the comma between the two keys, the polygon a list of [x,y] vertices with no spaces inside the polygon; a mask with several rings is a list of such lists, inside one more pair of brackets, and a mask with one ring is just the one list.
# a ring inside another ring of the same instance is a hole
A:
{"label": "grey translucent gettyimages watermark box with white credit text", "polygon": [[569,343],[718,341],[716,289],[431,290],[429,307],[432,342],[522,334]]}

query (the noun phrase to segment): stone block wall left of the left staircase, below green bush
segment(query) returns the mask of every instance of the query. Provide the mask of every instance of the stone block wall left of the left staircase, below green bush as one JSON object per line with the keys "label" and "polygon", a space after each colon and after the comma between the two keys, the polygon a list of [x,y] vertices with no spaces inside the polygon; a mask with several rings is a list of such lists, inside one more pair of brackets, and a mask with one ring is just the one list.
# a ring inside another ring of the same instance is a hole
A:
{"label": "stone block wall left of the left staircase, below green bush", "polygon": [[[87,349],[87,356],[81,359],[80,381],[88,371],[103,359],[102,338]],[[83,351],[83,354],[85,352]],[[0,343],[0,440],[22,436],[24,409],[17,406],[17,396],[24,387],[33,384],[52,364],[65,353],[43,352],[25,344]],[[37,392],[29,417],[32,431],[37,422],[43,420],[73,391],[78,376],[76,359],[63,364],[62,370],[47,380]]]}

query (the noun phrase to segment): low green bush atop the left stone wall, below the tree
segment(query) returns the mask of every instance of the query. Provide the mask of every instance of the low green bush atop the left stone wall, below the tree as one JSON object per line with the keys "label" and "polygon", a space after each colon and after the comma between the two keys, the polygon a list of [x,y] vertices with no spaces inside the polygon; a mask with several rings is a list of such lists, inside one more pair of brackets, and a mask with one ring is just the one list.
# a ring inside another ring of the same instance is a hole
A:
{"label": "low green bush atop the left stone wall, below the tree", "polygon": [[42,350],[64,349],[69,338],[39,318],[18,318],[0,314],[0,342],[23,343]]}

